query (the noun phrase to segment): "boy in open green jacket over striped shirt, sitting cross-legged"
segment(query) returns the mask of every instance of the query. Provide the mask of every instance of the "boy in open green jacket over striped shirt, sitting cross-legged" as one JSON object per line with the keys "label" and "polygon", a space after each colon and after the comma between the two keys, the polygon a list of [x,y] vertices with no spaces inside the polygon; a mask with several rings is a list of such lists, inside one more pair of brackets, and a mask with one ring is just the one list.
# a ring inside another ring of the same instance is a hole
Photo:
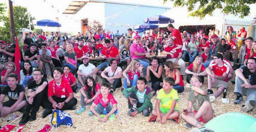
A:
{"label": "boy in open green jacket over striped shirt, sitting cross-legged", "polygon": [[[153,109],[151,103],[151,89],[147,86],[147,81],[144,77],[138,78],[138,83],[132,88],[124,89],[123,95],[128,99],[128,114],[132,117],[142,112],[143,116],[148,117]],[[134,103],[134,100],[136,103]],[[136,105],[136,110],[133,106]],[[150,110],[149,110],[150,109]]]}

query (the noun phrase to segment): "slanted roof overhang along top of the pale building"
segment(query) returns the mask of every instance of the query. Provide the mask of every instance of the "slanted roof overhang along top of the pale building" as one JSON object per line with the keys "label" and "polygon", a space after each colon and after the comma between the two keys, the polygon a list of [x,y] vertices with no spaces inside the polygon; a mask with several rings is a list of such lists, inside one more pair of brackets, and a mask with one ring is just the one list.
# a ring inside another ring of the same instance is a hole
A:
{"label": "slanted roof overhang along top of the pale building", "polygon": [[170,7],[165,7],[165,6],[153,6],[153,5],[145,5],[145,4],[113,2],[113,1],[108,1],[108,0],[74,0],[68,5],[68,7],[66,7],[65,11],[63,11],[63,14],[76,14],[80,9],[82,9],[83,6],[85,6],[89,2],[134,5],[134,6],[139,5],[139,6],[144,6],[144,7],[162,8],[162,9],[166,9],[166,10],[171,9]]}

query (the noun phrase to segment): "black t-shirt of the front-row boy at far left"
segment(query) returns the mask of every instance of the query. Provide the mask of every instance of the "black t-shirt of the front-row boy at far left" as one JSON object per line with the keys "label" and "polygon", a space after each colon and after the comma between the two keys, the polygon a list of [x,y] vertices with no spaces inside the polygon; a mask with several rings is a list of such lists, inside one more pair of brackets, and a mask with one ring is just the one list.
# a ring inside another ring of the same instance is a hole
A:
{"label": "black t-shirt of the front-row boy at far left", "polygon": [[9,99],[13,99],[13,100],[18,100],[20,93],[24,92],[24,96],[23,96],[23,100],[26,100],[26,96],[25,96],[25,89],[23,87],[23,85],[21,84],[16,84],[16,89],[15,90],[11,90],[11,88],[7,85],[2,89],[2,93],[4,95],[7,95],[9,97]]}

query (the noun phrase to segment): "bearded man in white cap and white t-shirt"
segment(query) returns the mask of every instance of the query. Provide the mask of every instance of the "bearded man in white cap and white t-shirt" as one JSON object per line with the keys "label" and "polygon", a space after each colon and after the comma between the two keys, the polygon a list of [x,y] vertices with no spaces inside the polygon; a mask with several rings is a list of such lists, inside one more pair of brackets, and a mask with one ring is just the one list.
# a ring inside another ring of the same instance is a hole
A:
{"label": "bearded man in white cap and white t-shirt", "polygon": [[[82,61],[84,62],[83,65],[80,65],[77,71],[78,74],[78,82],[81,84],[82,87],[85,86],[85,78],[88,76],[92,76],[94,80],[97,79],[97,69],[94,65],[89,63],[89,56],[83,55],[81,57]],[[93,73],[95,71],[95,73]]]}

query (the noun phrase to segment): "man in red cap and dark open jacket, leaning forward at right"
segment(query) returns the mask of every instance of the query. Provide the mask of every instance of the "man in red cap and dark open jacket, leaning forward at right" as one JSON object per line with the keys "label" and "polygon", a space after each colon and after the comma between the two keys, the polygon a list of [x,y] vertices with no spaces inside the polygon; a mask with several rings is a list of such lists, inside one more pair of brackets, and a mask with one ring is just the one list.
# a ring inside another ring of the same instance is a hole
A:
{"label": "man in red cap and dark open jacket, leaning forward at right", "polygon": [[213,54],[217,53],[219,50],[224,50],[222,43],[216,34],[213,34],[210,38],[212,40],[210,43],[210,54],[207,56],[207,60],[203,63],[205,68],[207,68],[210,64],[210,61],[212,61]]}

